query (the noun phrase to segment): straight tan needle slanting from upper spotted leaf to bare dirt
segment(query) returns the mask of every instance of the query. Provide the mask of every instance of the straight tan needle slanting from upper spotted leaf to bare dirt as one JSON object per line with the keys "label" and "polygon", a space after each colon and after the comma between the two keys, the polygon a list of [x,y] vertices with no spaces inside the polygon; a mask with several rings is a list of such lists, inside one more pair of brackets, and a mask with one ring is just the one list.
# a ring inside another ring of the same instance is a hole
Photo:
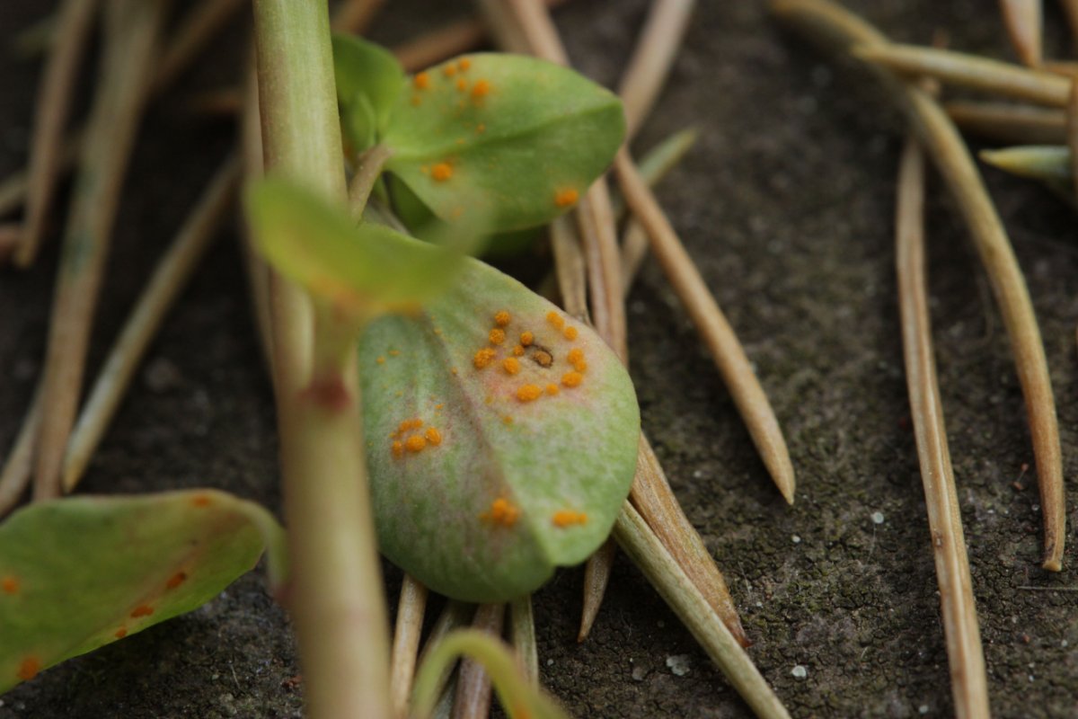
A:
{"label": "straight tan needle slanting from upper spotted leaf to bare dirt", "polygon": [[763,464],[783,497],[792,503],[796,481],[786,440],[745,350],[625,151],[618,154],[614,171],[626,202],[648,231],[652,252],[710,350]]}

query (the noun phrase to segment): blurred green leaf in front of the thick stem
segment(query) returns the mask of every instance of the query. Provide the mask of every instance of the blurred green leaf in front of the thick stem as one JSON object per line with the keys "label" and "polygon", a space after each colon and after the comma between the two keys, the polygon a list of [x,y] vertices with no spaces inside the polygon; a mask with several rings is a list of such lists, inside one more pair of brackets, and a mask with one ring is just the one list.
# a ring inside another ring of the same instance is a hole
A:
{"label": "blurred green leaf in front of the thick stem", "polygon": [[382,224],[356,225],[343,209],[275,178],[249,188],[247,215],[259,249],[278,272],[363,318],[414,312],[454,281],[464,254],[473,247],[462,227],[454,230],[459,236],[438,247]]}

